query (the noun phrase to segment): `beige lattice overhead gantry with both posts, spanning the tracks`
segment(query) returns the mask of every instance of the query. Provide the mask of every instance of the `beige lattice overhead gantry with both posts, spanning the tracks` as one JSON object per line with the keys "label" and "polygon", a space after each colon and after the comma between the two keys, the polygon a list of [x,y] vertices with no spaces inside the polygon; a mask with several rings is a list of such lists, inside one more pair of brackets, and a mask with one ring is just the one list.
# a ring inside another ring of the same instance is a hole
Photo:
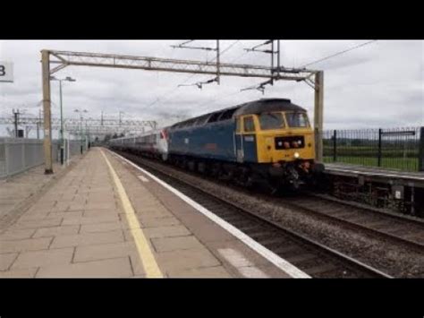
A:
{"label": "beige lattice overhead gantry with both posts, spanning the tracks", "polygon": [[[139,69],[145,71],[214,74],[216,76],[237,76],[247,78],[267,78],[271,81],[312,82],[315,90],[314,127],[316,133],[317,159],[322,159],[322,125],[323,125],[323,96],[324,73],[306,68],[276,69],[270,66],[254,64],[210,63],[208,61],[180,60],[157,58],[151,56],[123,56],[114,54],[56,51],[44,49],[41,51],[43,108],[44,108],[44,151],[45,173],[53,173],[52,137],[51,137],[51,93],[50,79],[53,73],[64,67],[94,66],[122,69]],[[55,67],[50,68],[51,65]],[[312,80],[314,78],[314,80]]]}

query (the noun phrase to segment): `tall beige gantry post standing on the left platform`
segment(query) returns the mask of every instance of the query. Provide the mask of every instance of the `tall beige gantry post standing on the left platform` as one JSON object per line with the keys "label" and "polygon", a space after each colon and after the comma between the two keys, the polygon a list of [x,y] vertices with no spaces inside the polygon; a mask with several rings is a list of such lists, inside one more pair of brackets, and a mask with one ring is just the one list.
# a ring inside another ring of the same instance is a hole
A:
{"label": "tall beige gantry post standing on the left platform", "polygon": [[51,97],[50,97],[50,52],[41,51],[41,67],[43,79],[43,110],[44,110],[44,159],[46,175],[53,174],[52,158],[52,127],[51,127]]}

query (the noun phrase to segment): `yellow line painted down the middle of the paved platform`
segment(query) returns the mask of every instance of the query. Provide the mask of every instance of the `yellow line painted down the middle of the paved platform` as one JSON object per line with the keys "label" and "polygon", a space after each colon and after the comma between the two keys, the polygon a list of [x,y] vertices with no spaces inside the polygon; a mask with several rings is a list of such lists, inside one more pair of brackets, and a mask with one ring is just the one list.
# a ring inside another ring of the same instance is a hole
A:
{"label": "yellow line painted down the middle of the paved platform", "polygon": [[153,255],[150,246],[148,245],[148,240],[143,233],[143,230],[140,227],[139,219],[135,215],[135,211],[132,208],[130,199],[128,198],[125,189],[123,188],[123,184],[119,179],[118,175],[114,171],[109,160],[106,158],[103,150],[100,150],[103,157],[106,160],[107,166],[109,167],[110,173],[114,180],[114,185],[116,186],[116,190],[119,194],[121,202],[123,203],[123,211],[125,212],[125,216],[127,218],[128,224],[130,225],[131,235],[134,238],[135,245],[137,246],[137,251],[140,256],[140,261],[143,264],[144,271],[146,272],[147,278],[163,278],[164,275],[159,269],[157,262],[155,260],[155,256]]}

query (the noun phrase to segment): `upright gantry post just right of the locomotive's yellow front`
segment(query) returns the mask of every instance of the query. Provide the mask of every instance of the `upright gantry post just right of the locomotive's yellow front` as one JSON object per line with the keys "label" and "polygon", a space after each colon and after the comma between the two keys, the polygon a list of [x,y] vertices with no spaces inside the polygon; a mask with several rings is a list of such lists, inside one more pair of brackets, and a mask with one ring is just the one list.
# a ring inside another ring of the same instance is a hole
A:
{"label": "upright gantry post just right of the locomotive's yellow front", "polygon": [[314,130],[315,130],[315,156],[317,161],[322,161],[323,143],[323,118],[324,118],[324,72],[315,73],[315,107],[314,107]]}

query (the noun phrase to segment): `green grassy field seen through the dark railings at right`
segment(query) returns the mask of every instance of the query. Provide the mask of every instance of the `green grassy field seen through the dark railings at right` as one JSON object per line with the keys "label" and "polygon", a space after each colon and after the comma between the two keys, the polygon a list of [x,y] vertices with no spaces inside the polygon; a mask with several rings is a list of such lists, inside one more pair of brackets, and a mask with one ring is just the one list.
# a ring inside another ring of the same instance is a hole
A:
{"label": "green grassy field seen through the dark railings at right", "polygon": [[[333,157],[325,156],[325,163],[333,163]],[[351,165],[360,165],[368,167],[377,167],[377,158],[373,157],[349,157],[337,156],[335,163],[347,163]],[[417,158],[382,158],[381,168],[391,168],[404,171],[418,171],[419,161]]]}

